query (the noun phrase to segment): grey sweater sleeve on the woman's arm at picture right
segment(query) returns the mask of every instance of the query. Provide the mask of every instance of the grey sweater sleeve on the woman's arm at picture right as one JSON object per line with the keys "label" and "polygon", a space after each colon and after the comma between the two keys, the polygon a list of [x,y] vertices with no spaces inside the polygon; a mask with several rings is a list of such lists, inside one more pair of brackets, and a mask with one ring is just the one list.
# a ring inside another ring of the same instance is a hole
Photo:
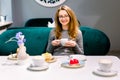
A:
{"label": "grey sweater sleeve on the woman's arm at picture right", "polygon": [[76,46],[73,48],[74,52],[76,54],[84,54],[84,49],[83,49],[83,37],[82,37],[82,32],[79,30],[78,31],[78,36],[76,39]]}

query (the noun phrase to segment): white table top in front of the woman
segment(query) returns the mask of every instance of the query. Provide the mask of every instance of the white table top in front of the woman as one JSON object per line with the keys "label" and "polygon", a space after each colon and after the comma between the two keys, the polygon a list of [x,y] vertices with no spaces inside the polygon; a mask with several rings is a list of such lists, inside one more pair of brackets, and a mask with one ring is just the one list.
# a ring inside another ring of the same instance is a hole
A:
{"label": "white table top in front of the woman", "polygon": [[[0,80],[120,80],[120,60],[115,56],[87,56],[84,67],[79,69],[67,69],[61,67],[61,62],[66,56],[57,56],[57,61],[49,64],[46,71],[29,71],[30,63],[23,65],[3,65],[7,61],[6,56],[0,56]],[[98,60],[108,58],[113,61],[113,70],[118,71],[114,77],[101,77],[94,75],[93,70],[98,68]],[[31,60],[31,57],[28,61]]]}

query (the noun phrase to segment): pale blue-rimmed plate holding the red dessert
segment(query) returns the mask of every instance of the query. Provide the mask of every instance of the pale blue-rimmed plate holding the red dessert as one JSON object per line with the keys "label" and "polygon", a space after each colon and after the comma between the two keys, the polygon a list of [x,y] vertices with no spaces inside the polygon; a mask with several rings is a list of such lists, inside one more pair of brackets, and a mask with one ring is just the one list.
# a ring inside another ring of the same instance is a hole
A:
{"label": "pale blue-rimmed plate holding the red dessert", "polygon": [[85,65],[85,62],[84,61],[79,61],[79,64],[69,64],[69,62],[63,62],[61,64],[62,67],[65,67],[65,68],[81,68],[81,67],[84,67]]}

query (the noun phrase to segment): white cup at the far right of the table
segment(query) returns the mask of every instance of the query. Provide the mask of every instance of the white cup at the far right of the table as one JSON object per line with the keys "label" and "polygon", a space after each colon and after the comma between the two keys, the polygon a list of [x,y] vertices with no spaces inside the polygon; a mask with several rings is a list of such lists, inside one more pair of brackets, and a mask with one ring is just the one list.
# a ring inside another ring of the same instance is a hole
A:
{"label": "white cup at the far right of the table", "polygon": [[100,59],[99,66],[101,71],[109,72],[111,71],[112,61],[109,59]]}

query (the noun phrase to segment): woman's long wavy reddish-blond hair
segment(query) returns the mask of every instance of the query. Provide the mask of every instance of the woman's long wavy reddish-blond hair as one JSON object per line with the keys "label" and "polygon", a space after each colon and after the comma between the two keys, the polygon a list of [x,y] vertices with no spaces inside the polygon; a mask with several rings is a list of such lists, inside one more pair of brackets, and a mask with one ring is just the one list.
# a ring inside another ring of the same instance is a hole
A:
{"label": "woman's long wavy reddish-blond hair", "polygon": [[78,34],[78,27],[80,25],[78,23],[78,20],[76,18],[75,13],[73,12],[73,10],[66,5],[60,6],[58,8],[58,10],[56,11],[56,14],[55,14],[55,26],[56,27],[55,27],[55,30],[54,30],[55,37],[57,39],[61,38],[62,24],[59,22],[59,11],[60,10],[65,10],[70,17],[70,22],[68,24],[69,25],[69,27],[68,27],[69,38],[73,39],[73,40],[76,39],[77,34]]}

